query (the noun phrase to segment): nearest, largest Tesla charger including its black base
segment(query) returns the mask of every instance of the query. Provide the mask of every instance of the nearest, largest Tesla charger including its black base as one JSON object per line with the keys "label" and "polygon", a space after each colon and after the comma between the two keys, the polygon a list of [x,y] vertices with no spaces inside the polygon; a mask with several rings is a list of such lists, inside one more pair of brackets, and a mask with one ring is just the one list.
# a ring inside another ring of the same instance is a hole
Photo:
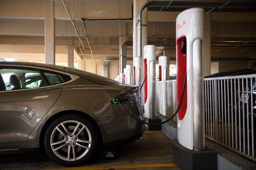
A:
{"label": "nearest, largest Tesla charger including its black base", "polygon": [[[187,73],[184,96],[177,113],[178,140],[173,141],[173,160],[181,169],[217,169],[217,154],[203,150],[203,16],[202,8],[191,8],[181,12],[176,19],[177,105]],[[195,154],[197,156],[193,156]],[[184,163],[184,160],[191,162]]]}

